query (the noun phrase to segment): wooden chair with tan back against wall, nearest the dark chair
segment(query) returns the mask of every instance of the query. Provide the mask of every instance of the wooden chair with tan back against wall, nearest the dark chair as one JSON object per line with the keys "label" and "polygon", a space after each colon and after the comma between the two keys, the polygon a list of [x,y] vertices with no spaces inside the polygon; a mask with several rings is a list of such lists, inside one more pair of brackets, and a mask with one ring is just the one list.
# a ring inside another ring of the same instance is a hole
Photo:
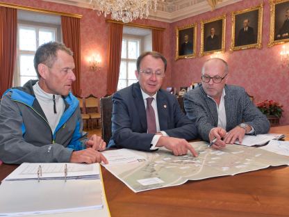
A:
{"label": "wooden chair with tan back against wall, nearest the dark chair", "polygon": [[97,97],[90,95],[85,98],[85,110],[88,115],[90,115],[91,127],[94,129],[94,122],[97,122],[97,127],[99,127],[99,121],[101,120],[101,115],[99,113],[99,103]]}

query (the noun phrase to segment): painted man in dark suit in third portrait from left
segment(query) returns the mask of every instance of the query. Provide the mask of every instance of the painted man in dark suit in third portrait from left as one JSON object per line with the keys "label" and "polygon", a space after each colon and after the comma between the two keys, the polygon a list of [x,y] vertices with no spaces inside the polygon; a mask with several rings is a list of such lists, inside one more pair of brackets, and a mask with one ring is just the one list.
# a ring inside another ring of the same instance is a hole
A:
{"label": "painted man in dark suit in third portrait from left", "polygon": [[249,19],[244,19],[243,28],[240,29],[237,39],[237,46],[251,45],[256,43],[254,29],[249,26]]}

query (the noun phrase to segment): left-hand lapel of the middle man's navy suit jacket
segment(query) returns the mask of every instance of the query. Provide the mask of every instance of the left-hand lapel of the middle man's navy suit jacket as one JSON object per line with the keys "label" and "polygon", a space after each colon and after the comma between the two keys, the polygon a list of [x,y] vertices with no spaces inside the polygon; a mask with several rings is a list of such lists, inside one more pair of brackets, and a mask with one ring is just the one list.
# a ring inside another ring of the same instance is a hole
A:
{"label": "left-hand lapel of the middle man's navy suit jacket", "polygon": [[147,113],[145,111],[145,102],[142,98],[139,83],[133,84],[133,101],[140,117],[140,125],[144,131],[147,131]]}

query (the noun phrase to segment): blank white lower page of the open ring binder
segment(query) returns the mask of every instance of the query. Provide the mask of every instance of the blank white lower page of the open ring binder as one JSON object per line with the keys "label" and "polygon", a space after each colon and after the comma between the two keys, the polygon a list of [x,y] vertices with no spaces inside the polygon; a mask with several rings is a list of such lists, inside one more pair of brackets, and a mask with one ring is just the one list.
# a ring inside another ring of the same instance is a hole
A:
{"label": "blank white lower page of the open ring binder", "polygon": [[100,180],[37,180],[9,182],[0,187],[0,216],[56,214],[102,209]]}

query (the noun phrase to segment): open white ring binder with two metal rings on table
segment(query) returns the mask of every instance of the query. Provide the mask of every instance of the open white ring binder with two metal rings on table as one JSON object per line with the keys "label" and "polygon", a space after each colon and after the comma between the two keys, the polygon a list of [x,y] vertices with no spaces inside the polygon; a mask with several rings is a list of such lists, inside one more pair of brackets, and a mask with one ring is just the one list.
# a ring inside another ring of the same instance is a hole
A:
{"label": "open white ring binder with two metal rings on table", "polygon": [[99,163],[22,163],[0,185],[0,216],[74,211],[82,216],[79,211],[91,210],[110,216],[99,168]]}

